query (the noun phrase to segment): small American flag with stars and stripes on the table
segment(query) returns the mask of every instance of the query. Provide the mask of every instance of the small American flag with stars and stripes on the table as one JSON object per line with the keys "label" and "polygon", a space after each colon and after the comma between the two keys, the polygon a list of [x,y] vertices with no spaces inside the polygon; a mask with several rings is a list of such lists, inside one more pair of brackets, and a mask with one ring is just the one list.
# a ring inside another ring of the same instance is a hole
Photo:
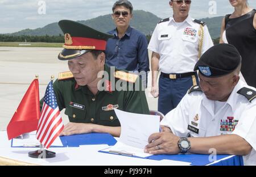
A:
{"label": "small American flag with stars and stripes on the table", "polygon": [[44,95],[44,103],[36,131],[36,138],[48,149],[63,129],[64,125],[51,81]]}

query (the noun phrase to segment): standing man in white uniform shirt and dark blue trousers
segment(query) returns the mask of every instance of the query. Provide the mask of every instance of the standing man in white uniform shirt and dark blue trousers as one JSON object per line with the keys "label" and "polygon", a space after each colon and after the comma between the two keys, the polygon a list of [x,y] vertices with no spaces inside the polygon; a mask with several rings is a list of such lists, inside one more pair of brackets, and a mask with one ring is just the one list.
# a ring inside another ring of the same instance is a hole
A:
{"label": "standing man in white uniform shirt and dark blue trousers", "polygon": [[190,0],[171,0],[169,4],[174,11],[173,17],[158,23],[148,44],[152,51],[151,94],[159,96],[158,111],[164,115],[177,106],[191,86],[198,83],[193,67],[200,55],[213,45],[205,23],[188,15]]}

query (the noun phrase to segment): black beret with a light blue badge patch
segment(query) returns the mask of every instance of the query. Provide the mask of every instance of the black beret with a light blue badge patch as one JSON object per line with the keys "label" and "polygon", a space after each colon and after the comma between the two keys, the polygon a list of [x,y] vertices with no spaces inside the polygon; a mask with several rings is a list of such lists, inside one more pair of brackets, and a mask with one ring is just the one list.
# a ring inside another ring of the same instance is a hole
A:
{"label": "black beret with a light blue badge patch", "polygon": [[233,45],[217,44],[201,56],[195,65],[194,71],[199,69],[205,77],[221,77],[232,73],[240,63],[240,53]]}

